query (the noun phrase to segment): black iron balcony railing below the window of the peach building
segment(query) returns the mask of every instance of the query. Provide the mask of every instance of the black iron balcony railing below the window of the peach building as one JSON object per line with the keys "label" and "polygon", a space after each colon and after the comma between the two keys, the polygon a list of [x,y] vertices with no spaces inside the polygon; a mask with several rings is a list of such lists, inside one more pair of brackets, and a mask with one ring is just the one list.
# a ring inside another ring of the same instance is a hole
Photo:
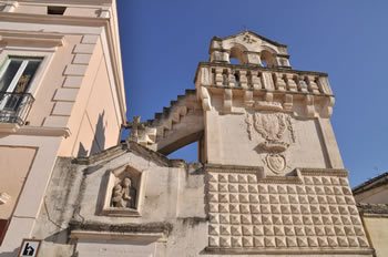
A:
{"label": "black iron balcony railing below the window of the peach building", "polygon": [[33,101],[29,93],[0,92],[0,123],[23,125]]}

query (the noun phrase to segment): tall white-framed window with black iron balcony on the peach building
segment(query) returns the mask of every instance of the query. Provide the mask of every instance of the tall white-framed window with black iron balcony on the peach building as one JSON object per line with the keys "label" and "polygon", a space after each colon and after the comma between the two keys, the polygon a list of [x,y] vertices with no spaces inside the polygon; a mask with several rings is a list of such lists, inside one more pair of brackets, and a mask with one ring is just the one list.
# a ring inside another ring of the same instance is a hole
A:
{"label": "tall white-framed window with black iron balcony on the peach building", "polygon": [[10,56],[0,68],[0,122],[23,123],[33,97],[28,93],[42,59]]}

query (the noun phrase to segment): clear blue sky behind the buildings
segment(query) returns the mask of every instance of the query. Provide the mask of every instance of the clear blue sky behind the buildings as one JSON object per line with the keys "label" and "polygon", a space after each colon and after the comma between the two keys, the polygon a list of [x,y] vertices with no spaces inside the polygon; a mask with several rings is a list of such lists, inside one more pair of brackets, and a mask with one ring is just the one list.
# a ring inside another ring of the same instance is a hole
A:
{"label": "clear blue sky behind the buildings", "polygon": [[[329,74],[353,186],[388,169],[388,1],[118,0],[118,9],[129,119],[152,119],[194,89],[211,38],[247,28],[287,44],[293,69]],[[194,161],[196,151],[172,156]]]}

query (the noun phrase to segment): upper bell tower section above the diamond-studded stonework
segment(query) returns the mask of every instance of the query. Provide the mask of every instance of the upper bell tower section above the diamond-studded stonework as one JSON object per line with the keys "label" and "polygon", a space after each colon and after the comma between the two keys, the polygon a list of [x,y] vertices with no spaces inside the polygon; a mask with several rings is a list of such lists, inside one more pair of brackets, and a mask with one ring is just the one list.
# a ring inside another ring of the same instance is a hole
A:
{"label": "upper bell tower section above the diamond-studded stonework", "polygon": [[195,85],[207,163],[263,166],[267,175],[344,167],[327,74],[293,70],[286,45],[249,31],[213,38]]}

